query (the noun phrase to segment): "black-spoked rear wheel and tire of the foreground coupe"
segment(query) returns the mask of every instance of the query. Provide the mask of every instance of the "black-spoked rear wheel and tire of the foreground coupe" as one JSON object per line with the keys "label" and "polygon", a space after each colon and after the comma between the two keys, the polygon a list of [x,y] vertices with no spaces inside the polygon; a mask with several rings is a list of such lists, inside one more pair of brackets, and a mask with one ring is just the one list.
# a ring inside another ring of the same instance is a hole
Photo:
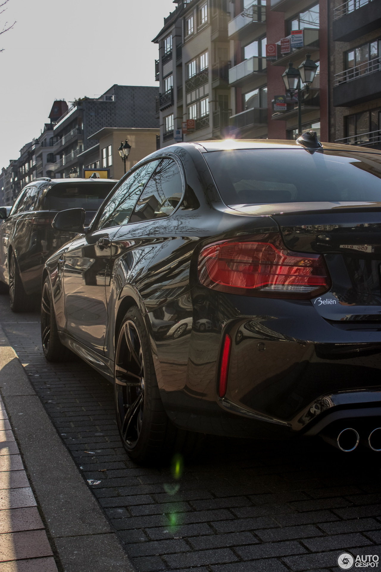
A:
{"label": "black-spoked rear wheel and tire of the foreground coupe", "polygon": [[149,336],[139,309],[131,307],[117,336],[114,369],[119,435],[135,463],[167,463],[175,453],[194,455],[204,435],[179,430],[164,409]]}

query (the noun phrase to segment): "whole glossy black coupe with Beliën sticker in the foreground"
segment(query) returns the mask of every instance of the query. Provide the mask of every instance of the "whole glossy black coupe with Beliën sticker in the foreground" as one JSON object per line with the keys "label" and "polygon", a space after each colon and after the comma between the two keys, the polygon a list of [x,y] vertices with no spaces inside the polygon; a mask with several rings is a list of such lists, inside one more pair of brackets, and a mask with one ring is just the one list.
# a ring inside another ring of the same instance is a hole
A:
{"label": "whole glossy black coupe with Beli\u00ebn sticker in the foreground", "polygon": [[158,150],[90,228],[55,217],[79,234],[43,271],[46,359],[114,383],[139,463],[197,433],[381,450],[380,179],[381,152],[314,133]]}

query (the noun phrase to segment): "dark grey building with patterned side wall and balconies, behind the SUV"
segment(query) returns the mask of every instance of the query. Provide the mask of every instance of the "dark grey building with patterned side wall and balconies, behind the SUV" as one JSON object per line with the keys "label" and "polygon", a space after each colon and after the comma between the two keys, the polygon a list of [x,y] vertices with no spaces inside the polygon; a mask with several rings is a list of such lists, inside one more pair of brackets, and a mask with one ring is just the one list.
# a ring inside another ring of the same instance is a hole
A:
{"label": "dark grey building with patterned side wall and balconies, behind the SUV", "polygon": [[54,124],[54,177],[80,177],[84,168],[96,168],[99,142],[89,137],[105,126],[158,128],[157,95],[149,86],[113,85],[101,96],[74,101]]}

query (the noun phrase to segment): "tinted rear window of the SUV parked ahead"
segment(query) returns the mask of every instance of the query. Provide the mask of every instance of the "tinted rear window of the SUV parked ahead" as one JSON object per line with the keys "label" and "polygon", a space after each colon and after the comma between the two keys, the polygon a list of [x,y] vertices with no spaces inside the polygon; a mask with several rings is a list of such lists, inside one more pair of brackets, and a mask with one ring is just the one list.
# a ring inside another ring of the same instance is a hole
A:
{"label": "tinted rear window of the SUV parked ahead", "polygon": [[53,185],[47,194],[46,208],[98,210],[114,185],[114,182]]}

